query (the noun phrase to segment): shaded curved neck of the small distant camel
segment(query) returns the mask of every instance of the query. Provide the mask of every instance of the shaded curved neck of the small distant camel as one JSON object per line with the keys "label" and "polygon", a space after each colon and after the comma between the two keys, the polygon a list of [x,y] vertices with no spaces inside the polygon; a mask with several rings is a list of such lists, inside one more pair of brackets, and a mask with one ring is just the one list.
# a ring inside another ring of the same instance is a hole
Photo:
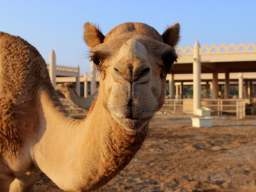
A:
{"label": "shaded curved neck of the small distant camel", "polygon": [[97,93],[93,93],[90,97],[79,97],[73,89],[69,89],[65,93],[65,97],[75,106],[83,109],[89,109],[92,106],[93,100],[97,97]]}

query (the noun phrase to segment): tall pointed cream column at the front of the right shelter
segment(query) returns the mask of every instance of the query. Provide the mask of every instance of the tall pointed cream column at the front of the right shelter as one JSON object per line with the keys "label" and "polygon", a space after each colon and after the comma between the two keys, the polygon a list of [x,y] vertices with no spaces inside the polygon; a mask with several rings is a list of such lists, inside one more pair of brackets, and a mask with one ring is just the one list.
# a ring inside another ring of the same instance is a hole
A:
{"label": "tall pointed cream column at the front of the right shelter", "polygon": [[196,115],[196,109],[201,107],[201,61],[200,45],[195,42],[193,50],[193,109]]}

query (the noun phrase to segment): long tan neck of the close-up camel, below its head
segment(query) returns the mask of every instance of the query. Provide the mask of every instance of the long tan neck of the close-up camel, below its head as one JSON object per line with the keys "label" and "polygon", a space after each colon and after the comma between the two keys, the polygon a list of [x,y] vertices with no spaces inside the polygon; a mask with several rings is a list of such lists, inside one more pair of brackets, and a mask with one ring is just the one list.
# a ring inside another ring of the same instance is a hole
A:
{"label": "long tan neck of the close-up camel, below its head", "polygon": [[108,182],[131,161],[147,134],[147,127],[140,133],[125,130],[101,104],[100,95],[85,120],[66,117],[45,92],[41,102],[44,120],[33,148],[35,163],[70,191],[97,189]]}

